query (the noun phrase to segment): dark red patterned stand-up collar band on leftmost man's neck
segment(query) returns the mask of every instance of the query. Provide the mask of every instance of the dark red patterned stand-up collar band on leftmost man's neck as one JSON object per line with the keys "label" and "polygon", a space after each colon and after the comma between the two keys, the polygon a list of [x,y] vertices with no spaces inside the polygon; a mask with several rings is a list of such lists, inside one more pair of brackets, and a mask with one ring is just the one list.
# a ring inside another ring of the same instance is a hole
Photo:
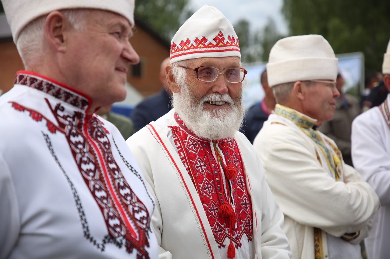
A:
{"label": "dark red patterned stand-up collar band on leftmost man's neck", "polygon": [[83,96],[72,93],[65,87],[59,86],[35,75],[18,73],[15,77],[14,84],[21,84],[23,86],[37,89],[80,109],[85,109],[88,106],[88,100]]}

